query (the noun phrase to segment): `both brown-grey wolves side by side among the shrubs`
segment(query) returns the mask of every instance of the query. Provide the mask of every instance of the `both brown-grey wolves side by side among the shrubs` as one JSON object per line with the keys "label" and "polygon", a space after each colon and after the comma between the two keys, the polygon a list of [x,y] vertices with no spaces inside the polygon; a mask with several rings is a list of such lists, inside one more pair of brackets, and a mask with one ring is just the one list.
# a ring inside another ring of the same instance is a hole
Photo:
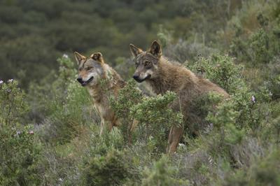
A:
{"label": "both brown-grey wolves side by side among the shrubs", "polygon": [[[134,80],[138,83],[146,81],[155,94],[165,94],[172,91],[177,94],[177,99],[172,103],[171,107],[175,111],[183,114],[183,122],[181,126],[174,124],[169,131],[167,153],[176,152],[184,127],[193,134],[198,134],[193,124],[203,123],[202,116],[197,112],[195,101],[199,96],[216,92],[223,97],[228,97],[228,93],[218,85],[211,81],[196,76],[195,73],[186,69],[185,66],[169,61],[162,55],[162,48],[158,41],[153,41],[151,47],[144,51],[130,44],[130,51],[134,57],[136,71]],[[90,57],[84,57],[78,52],[74,52],[76,61],[78,62],[78,82],[87,87],[92,96],[94,106],[97,113],[101,117],[101,131],[104,129],[109,131],[113,126],[120,125],[121,118],[116,117],[109,105],[109,97],[104,94],[100,79],[108,80],[106,88],[111,95],[118,97],[118,91],[125,87],[125,81],[120,75],[104,62],[104,58],[100,52],[96,52]]]}

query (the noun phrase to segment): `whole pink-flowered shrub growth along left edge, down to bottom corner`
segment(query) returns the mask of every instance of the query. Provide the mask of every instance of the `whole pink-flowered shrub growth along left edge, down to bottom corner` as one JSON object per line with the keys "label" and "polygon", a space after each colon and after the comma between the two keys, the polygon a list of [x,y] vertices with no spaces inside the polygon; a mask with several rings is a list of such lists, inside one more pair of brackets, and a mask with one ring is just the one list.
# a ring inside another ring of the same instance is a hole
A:
{"label": "whole pink-flowered shrub growth along left edge, down to bottom corner", "polygon": [[39,185],[41,143],[22,124],[28,105],[16,80],[0,83],[0,185]]}

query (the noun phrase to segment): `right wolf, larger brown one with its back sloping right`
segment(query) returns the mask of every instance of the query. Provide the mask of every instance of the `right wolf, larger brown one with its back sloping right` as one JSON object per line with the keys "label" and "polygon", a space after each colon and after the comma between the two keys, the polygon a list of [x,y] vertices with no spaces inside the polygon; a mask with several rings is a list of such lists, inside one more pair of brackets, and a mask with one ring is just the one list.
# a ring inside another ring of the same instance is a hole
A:
{"label": "right wolf, larger brown one with its back sloping right", "polygon": [[[172,109],[183,114],[183,121],[191,134],[199,134],[199,127],[205,122],[200,115],[200,108],[195,103],[200,96],[209,92],[217,92],[224,97],[228,93],[210,80],[196,76],[178,62],[171,62],[162,55],[158,41],[153,41],[151,47],[144,51],[130,44],[130,51],[134,57],[136,71],[133,75],[138,83],[146,81],[155,94],[175,92],[178,98],[172,103]],[[169,131],[167,153],[176,152],[177,145],[183,136],[184,126],[174,124]]]}

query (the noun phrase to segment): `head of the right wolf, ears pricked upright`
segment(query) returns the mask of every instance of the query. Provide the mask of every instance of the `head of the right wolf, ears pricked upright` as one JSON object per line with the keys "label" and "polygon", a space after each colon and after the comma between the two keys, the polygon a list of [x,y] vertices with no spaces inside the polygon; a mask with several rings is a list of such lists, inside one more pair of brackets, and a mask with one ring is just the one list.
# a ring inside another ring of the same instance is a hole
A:
{"label": "head of the right wolf, ears pricked upright", "polygon": [[153,41],[151,47],[147,51],[130,44],[130,51],[134,57],[136,71],[133,75],[134,80],[141,83],[144,80],[157,77],[158,62],[162,56],[162,49],[158,41]]}

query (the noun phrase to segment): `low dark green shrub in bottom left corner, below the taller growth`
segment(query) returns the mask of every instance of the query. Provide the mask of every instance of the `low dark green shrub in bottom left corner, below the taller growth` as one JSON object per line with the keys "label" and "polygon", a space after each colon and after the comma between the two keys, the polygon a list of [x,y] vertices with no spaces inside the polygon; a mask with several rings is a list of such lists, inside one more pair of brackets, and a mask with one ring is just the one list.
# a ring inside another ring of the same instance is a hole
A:
{"label": "low dark green shrub in bottom left corner, below the taller growth", "polygon": [[39,185],[41,144],[31,127],[0,127],[0,185]]}

